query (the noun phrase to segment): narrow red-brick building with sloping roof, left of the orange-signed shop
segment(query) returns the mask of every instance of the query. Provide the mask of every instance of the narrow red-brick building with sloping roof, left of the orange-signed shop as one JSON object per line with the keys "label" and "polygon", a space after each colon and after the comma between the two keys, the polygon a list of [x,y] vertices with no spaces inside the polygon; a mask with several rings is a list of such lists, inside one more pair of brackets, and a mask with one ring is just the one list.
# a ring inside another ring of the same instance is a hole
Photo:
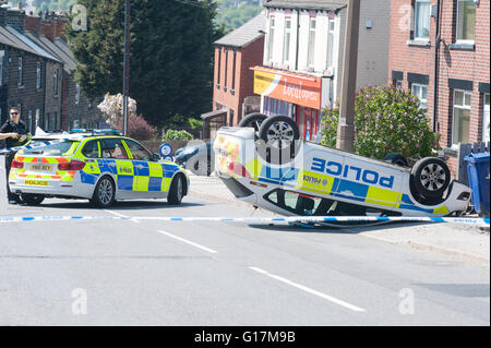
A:
{"label": "narrow red-brick building with sloping roof, left of the orange-signed shop", "polygon": [[214,43],[213,111],[202,116],[203,137],[213,137],[209,130],[213,120],[219,120],[218,127],[237,125],[248,113],[259,111],[260,100],[254,97],[254,73],[250,68],[263,59],[264,24],[265,15],[260,13]]}

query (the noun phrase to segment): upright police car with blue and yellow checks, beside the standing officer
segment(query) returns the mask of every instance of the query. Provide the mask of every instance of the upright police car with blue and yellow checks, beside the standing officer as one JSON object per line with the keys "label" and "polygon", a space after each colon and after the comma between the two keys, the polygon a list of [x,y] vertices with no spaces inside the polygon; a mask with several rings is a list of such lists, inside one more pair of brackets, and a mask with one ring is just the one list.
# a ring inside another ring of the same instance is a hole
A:
{"label": "upright police car with blue and yellow checks, beside the standing officer", "polygon": [[103,208],[116,200],[167,199],[180,204],[188,193],[182,168],[117,131],[33,141],[15,155],[9,178],[11,191],[27,204],[46,197],[88,199]]}

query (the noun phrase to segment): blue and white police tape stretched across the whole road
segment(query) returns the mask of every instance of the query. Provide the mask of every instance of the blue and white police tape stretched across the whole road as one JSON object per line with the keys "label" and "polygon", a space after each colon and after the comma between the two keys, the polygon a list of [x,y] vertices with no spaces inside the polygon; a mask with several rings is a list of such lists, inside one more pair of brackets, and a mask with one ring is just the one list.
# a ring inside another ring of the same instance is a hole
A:
{"label": "blue and white police tape stretched across the whole road", "polygon": [[87,221],[87,220],[133,220],[133,221],[164,221],[164,223],[303,223],[303,224],[335,224],[335,223],[446,223],[474,226],[489,226],[489,218],[465,217],[405,217],[405,216],[289,216],[289,217],[125,217],[125,216],[31,216],[31,217],[0,217],[0,224],[33,223],[33,221]]}

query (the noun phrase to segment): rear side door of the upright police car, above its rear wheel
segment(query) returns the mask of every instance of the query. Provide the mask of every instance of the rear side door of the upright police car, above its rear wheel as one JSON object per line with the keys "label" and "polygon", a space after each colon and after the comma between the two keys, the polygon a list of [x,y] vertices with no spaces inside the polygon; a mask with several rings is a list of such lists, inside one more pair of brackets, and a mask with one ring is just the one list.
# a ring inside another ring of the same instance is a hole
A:
{"label": "rear side door of the upright police car, above its rear wheel", "polygon": [[112,173],[116,179],[117,199],[133,199],[135,170],[133,163],[118,137],[103,139],[100,142],[100,171]]}

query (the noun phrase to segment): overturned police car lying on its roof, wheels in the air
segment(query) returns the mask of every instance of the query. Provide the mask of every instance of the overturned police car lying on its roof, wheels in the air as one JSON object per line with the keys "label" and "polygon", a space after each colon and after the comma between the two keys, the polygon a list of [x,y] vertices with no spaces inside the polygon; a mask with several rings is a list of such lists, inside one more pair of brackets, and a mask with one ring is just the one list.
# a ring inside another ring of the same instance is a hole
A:
{"label": "overturned police car lying on its roof, wheels in the air", "polygon": [[214,143],[217,172],[236,197],[283,215],[448,216],[466,212],[471,190],[428,157],[375,160],[299,141],[286,116],[246,117],[221,128]]}

